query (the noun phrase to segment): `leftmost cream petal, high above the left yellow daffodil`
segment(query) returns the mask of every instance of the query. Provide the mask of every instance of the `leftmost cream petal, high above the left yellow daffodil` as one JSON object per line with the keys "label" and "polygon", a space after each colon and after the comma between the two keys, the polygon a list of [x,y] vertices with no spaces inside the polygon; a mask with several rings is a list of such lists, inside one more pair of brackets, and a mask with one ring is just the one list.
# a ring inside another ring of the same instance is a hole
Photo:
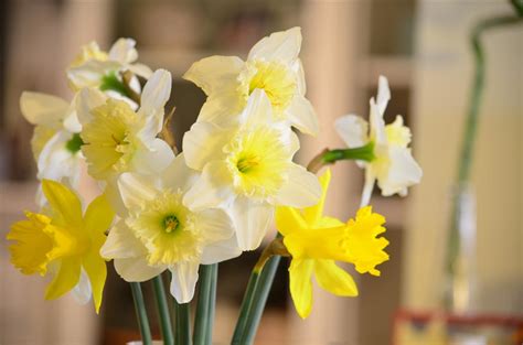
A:
{"label": "leftmost cream petal, high above the left yellow daffodil", "polygon": [[23,91],[20,110],[32,125],[56,126],[67,115],[70,105],[60,97]]}

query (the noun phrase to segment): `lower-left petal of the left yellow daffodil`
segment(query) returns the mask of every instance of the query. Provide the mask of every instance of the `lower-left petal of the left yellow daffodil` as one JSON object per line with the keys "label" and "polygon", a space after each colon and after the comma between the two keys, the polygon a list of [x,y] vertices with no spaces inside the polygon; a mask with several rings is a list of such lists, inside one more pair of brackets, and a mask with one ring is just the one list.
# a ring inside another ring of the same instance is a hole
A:
{"label": "lower-left petal of the left yellow daffodil", "polygon": [[58,273],[49,284],[45,291],[46,300],[54,300],[73,289],[79,280],[81,259],[79,257],[71,257],[62,260]]}

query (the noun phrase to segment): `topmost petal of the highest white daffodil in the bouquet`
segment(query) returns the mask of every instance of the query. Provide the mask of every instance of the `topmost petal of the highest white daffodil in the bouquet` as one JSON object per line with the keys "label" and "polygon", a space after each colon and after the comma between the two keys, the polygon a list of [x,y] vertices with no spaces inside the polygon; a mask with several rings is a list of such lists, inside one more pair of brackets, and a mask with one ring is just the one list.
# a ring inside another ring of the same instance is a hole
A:
{"label": "topmost petal of the highest white daffodil in the bouquet", "polygon": [[298,57],[301,48],[301,29],[292,28],[287,31],[275,32],[262,39],[253,46],[248,60],[278,60],[291,62]]}

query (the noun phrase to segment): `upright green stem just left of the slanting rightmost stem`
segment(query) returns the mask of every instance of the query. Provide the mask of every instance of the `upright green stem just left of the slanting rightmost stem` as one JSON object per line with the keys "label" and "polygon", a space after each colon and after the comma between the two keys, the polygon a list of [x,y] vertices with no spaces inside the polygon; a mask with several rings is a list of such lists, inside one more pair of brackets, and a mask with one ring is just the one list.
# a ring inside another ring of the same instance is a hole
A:
{"label": "upright green stem just left of the slanting rightmost stem", "polygon": [[217,263],[201,265],[200,266],[200,291],[198,294],[196,315],[194,317],[194,345],[207,345],[207,339],[211,339],[212,324],[214,319],[211,314],[211,304],[214,305],[216,299],[216,276]]}

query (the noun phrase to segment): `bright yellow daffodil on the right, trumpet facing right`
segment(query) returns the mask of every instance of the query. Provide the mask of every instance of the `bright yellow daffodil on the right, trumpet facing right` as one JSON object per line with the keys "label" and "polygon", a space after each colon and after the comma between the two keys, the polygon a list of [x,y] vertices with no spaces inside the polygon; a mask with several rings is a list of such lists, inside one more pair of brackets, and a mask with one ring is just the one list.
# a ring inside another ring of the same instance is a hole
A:
{"label": "bright yellow daffodil on the right, trumpet facing right", "polygon": [[370,206],[361,208],[356,218],[348,223],[323,216],[330,179],[330,170],[320,177],[322,196],[318,205],[305,209],[278,207],[276,212],[276,227],[291,256],[290,294],[303,319],[312,309],[312,276],[322,289],[354,297],[357,288],[353,278],[335,261],[353,263],[360,273],[380,276],[375,266],[388,260],[383,250],[388,241],[376,238],[385,231],[385,218]]}

